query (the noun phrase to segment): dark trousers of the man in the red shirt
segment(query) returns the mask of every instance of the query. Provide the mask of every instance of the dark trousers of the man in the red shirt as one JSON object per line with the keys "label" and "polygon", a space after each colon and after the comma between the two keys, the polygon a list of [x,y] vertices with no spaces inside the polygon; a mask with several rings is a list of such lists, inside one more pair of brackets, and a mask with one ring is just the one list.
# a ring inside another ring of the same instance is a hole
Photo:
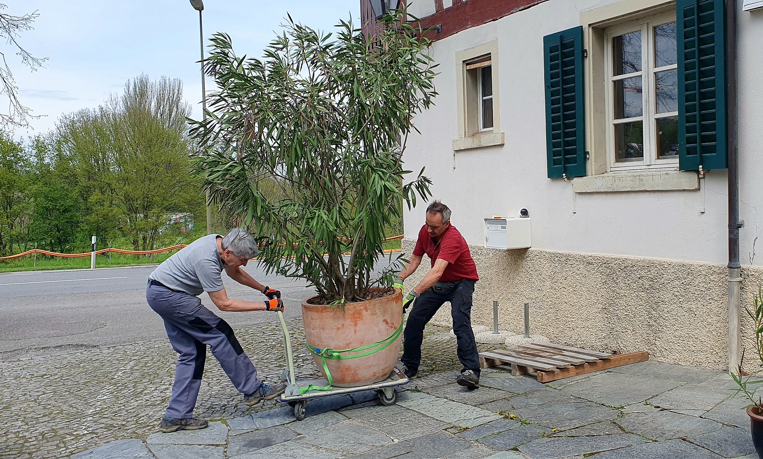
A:
{"label": "dark trousers of the man in the red shirt", "polygon": [[414,302],[403,333],[403,357],[400,361],[410,370],[418,371],[421,361],[421,342],[424,326],[434,314],[450,301],[450,315],[453,317],[453,332],[458,343],[457,353],[464,370],[472,370],[479,376],[479,355],[472,332],[472,294],[475,281],[462,279],[456,282],[437,282],[428,288]]}

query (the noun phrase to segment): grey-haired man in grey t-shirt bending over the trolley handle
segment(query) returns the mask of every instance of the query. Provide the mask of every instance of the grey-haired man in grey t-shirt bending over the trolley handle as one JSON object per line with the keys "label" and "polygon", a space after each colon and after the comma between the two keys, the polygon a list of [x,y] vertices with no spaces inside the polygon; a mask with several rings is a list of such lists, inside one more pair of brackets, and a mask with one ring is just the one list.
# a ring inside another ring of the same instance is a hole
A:
{"label": "grey-haired man in grey t-shirt bending over the trolley handle", "polygon": [[[234,228],[227,236],[210,234],[167,258],[154,270],[146,287],[146,301],[164,320],[169,342],[179,354],[175,383],[167,411],[159,424],[162,432],[204,429],[208,422],[193,417],[207,358],[207,345],[233,386],[244,394],[244,403],[273,400],[285,384],[262,383],[227,322],[201,305],[202,292],[222,311],[282,311],[281,293],[254,280],[241,266],[257,255],[254,238]],[[228,298],[221,276],[266,294],[264,303]]]}

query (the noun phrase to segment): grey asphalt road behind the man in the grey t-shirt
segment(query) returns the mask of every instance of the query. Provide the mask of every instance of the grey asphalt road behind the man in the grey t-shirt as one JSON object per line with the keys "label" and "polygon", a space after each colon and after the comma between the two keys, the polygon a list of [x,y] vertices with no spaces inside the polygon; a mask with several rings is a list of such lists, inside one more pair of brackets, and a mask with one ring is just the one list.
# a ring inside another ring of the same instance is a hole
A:
{"label": "grey asphalt road behind the man in the grey t-shirt", "polygon": [[[33,271],[0,274],[0,360],[49,355],[163,338],[162,320],[146,304],[148,275],[154,267]],[[302,300],[313,294],[304,281],[266,276],[255,264],[246,271],[282,291],[285,316],[299,319]],[[262,301],[258,291],[223,274],[229,297]],[[207,294],[204,306],[233,328],[277,322],[275,313],[224,313]]]}

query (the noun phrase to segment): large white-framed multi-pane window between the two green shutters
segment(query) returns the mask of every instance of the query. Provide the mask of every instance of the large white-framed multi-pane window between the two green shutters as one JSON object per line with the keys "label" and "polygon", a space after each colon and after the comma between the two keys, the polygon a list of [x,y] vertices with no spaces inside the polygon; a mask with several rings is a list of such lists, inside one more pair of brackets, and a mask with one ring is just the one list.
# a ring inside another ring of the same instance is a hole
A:
{"label": "large white-framed multi-pane window between the two green shutters", "polygon": [[678,164],[676,32],[675,14],[605,30],[610,171]]}

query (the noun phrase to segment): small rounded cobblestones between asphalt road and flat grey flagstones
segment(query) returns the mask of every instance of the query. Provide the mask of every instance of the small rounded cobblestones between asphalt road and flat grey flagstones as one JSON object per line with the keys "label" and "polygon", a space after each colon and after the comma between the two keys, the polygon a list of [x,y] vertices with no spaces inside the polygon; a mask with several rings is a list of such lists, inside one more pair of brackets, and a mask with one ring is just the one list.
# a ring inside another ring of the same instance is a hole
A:
{"label": "small rounded cobblestones between asphalt road and flat grey flagstones", "polygon": [[[317,377],[301,322],[291,321],[289,327],[295,372]],[[277,380],[285,368],[281,326],[266,323],[237,329],[236,334],[259,376]],[[423,360],[429,372],[454,368],[458,362],[455,342],[443,329],[428,330],[425,348],[431,349]],[[0,458],[59,458],[108,441],[147,438],[156,432],[169,400],[176,358],[169,342],[161,339],[0,362]],[[208,353],[195,415],[230,419],[273,406],[243,404]]]}

